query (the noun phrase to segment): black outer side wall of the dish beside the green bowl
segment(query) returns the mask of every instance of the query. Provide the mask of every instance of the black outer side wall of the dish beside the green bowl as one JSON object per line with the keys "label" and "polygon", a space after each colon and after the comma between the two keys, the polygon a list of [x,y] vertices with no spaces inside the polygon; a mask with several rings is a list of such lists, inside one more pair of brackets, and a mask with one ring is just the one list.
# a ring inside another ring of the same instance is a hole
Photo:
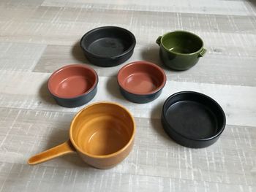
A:
{"label": "black outer side wall of the dish beside the green bowl", "polygon": [[133,49],[129,50],[129,52],[127,52],[125,55],[121,55],[115,58],[98,58],[95,55],[87,52],[86,50],[83,50],[83,53],[84,55],[86,55],[86,58],[88,59],[88,61],[91,62],[91,64],[102,67],[110,67],[123,64],[124,61],[127,61],[132,56]]}

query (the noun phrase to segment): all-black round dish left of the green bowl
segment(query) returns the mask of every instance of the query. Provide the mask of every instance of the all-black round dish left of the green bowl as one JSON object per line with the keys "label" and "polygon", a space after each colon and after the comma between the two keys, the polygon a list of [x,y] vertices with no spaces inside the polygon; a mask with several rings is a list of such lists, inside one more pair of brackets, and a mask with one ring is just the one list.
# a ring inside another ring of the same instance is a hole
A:
{"label": "all-black round dish left of the green bowl", "polygon": [[125,28],[94,28],[80,40],[86,58],[97,66],[116,66],[132,56],[135,36]]}

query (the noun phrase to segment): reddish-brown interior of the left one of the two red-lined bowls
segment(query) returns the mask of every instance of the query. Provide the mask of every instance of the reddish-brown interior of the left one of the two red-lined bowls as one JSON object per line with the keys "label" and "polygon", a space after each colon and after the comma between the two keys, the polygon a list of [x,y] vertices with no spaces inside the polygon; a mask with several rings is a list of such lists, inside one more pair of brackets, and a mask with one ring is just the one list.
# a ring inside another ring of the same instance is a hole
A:
{"label": "reddish-brown interior of the left one of the two red-lined bowls", "polygon": [[50,93],[71,99],[89,93],[97,86],[97,73],[91,67],[74,64],[58,69],[48,80]]}

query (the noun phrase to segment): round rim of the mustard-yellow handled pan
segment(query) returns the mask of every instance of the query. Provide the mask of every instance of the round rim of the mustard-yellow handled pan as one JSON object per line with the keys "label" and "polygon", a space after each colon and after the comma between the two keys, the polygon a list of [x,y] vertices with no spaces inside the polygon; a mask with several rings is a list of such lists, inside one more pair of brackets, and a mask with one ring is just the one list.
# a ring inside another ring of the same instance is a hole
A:
{"label": "round rim of the mustard-yellow handled pan", "polygon": [[[78,147],[78,145],[76,145],[75,140],[72,137],[72,127],[74,126],[75,120],[76,118],[78,118],[78,116],[84,111],[87,110],[89,107],[94,107],[98,104],[111,104],[111,105],[115,105],[116,107],[120,107],[121,109],[123,109],[125,112],[127,112],[127,114],[129,115],[129,118],[132,120],[132,135],[131,137],[129,137],[129,141],[127,142],[126,145],[124,145],[124,147],[121,147],[121,149],[117,150],[114,153],[110,153],[108,155],[93,155],[91,153],[86,153],[85,151],[81,150],[80,147]],[[70,128],[69,128],[69,139],[72,142],[72,145],[74,145],[75,149],[78,150],[80,153],[82,153],[83,155],[89,156],[91,158],[111,158],[114,157],[120,153],[122,153],[124,150],[127,150],[127,148],[132,145],[132,142],[134,141],[135,138],[135,131],[136,131],[136,124],[135,124],[135,119],[132,116],[132,114],[125,108],[123,107],[121,104],[118,104],[116,102],[110,102],[110,101],[99,101],[99,102],[95,102],[93,104],[89,104],[86,107],[83,107],[82,110],[80,110],[75,117],[72,119]]]}

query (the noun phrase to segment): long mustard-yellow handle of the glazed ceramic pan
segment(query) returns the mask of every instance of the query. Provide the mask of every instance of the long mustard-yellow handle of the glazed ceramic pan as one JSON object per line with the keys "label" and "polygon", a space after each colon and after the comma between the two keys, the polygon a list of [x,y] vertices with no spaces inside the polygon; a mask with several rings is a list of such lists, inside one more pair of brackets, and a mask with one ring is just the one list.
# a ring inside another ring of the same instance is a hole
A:
{"label": "long mustard-yellow handle of the glazed ceramic pan", "polygon": [[66,155],[68,153],[75,153],[75,151],[76,151],[75,147],[73,147],[70,140],[67,140],[67,142],[62,143],[61,145],[58,145],[49,150],[45,150],[42,153],[38,153],[37,155],[32,156],[31,158],[29,158],[28,164],[30,165],[41,164],[45,161],[49,161],[61,155]]}

